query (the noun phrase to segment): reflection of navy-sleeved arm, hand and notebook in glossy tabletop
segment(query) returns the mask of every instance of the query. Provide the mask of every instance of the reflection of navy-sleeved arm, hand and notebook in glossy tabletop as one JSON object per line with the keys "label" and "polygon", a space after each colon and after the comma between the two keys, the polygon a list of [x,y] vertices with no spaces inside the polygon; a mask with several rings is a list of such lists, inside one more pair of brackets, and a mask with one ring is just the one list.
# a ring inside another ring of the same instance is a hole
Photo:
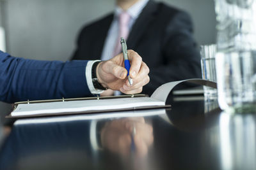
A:
{"label": "reflection of navy-sleeved arm, hand and notebook in glossy tabletop", "polygon": [[[148,114],[152,112],[165,114],[164,109],[148,111]],[[138,117],[145,111],[138,113],[132,111],[129,117],[93,120],[86,115],[55,118],[56,121],[51,118],[20,120],[1,148],[0,169],[100,169],[106,166],[125,169],[126,164],[132,169],[143,168],[148,164],[145,160],[154,136],[151,116]],[[113,161],[119,163],[109,164]]]}

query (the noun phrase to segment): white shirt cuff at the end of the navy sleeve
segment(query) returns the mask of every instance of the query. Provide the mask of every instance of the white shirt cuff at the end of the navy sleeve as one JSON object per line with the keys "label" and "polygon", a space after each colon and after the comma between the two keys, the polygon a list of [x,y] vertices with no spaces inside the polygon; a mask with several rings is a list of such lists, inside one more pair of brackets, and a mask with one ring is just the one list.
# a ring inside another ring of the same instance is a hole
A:
{"label": "white shirt cuff at the end of the navy sleeve", "polygon": [[87,85],[92,94],[101,94],[102,92],[104,92],[104,90],[95,89],[92,83],[92,65],[94,64],[94,62],[97,62],[97,61],[100,61],[100,60],[88,61],[85,69]]}

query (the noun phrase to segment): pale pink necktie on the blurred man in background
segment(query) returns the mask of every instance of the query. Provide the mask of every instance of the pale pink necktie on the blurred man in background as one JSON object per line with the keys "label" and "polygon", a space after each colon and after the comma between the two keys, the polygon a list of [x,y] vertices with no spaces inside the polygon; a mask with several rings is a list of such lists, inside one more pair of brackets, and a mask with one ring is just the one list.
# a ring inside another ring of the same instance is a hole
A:
{"label": "pale pink necktie on the blurred man in background", "polygon": [[125,41],[128,38],[129,34],[129,20],[130,20],[130,15],[127,12],[122,12],[119,15],[119,32],[118,32],[118,38],[116,39],[116,45],[115,45],[115,50],[113,52],[113,56],[118,55],[118,53],[121,52],[121,43],[120,43],[120,38],[123,37]]}

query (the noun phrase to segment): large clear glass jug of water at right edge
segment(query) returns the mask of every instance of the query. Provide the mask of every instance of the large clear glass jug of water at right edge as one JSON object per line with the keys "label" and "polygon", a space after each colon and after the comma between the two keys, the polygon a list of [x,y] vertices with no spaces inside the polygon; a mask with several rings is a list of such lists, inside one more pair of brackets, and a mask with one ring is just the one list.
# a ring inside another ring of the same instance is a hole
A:
{"label": "large clear glass jug of water at right edge", "polygon": [[256,111],[256,2],[216,0],[220,108]]}

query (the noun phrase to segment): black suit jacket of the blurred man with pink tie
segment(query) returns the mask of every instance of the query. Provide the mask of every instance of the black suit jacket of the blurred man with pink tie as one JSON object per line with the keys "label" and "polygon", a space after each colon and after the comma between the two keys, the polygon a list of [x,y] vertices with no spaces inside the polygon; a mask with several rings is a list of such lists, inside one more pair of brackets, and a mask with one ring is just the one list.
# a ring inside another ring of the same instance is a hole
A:
{"label": "black suit jacket of the blurred man with pink tie", "polygon": [[[111,13],[82,29],[72,59],[100,59],[113,16]],[[138,52],[150,68],[150,82],[143,93],[150,95],[169,81],[200,78],[200,54],[192,32],[187,13],[148,2],[127,39],[127,48]]]}

